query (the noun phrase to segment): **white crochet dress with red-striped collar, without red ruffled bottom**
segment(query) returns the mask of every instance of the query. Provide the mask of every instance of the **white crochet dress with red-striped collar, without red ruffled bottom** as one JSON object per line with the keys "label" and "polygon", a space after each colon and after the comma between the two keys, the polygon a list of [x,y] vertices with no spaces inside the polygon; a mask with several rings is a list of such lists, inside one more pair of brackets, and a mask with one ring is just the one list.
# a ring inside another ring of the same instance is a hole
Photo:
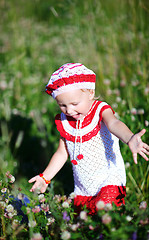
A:
{"label": "white crochet dress with red-striped collar, without red ruffled bottom", "polygon": [[94,101],[82,121],[63,113],[56,116],[57,129],[66,139],[72,161],[76,195],[96,196],[102,187],[126,185],[119,139],[102,122],[102,112],[107,108],[111,108],[107,103]]}

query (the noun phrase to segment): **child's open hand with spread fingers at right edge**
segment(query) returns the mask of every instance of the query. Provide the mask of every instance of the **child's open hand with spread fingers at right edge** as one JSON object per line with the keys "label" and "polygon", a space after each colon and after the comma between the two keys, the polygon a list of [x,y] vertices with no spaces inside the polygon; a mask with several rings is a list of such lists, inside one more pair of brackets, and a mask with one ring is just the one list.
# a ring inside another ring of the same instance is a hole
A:
{"label": "child's open hand with spread fingers at right edge", "polygon": [[145,129],[141,130],[139,133],[136,133],[131,137],[131,139],[128,142],[128,146],[132,152],[133,160],[135,164],[137,164],[137,154],[139,153],[146,161],[149,160],[149,158],[146,156],[149,155],[149,146],[142,142],[141,137],[146,132]]}

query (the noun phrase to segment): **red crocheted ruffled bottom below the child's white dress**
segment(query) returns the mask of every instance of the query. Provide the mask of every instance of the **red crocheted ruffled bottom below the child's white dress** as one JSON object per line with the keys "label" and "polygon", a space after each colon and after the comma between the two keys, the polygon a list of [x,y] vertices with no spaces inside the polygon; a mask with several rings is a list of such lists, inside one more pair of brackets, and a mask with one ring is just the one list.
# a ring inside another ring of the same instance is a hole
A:
{"label": "red crocheted ruffled bottom below the child's white dress", "polygon": [[98,201],[103,201],[105,204],[115,203],[116,206],[121,206],[122,204],[125,204],[125,196],[125,186],[108,185],[102,187],[96,196],[77,195],[74,198],[74,206],[76,212],[79,213],[82,207],[86,205],[86,208],[89,210],[89,215],[94,215],[97,213],[96,204]]}

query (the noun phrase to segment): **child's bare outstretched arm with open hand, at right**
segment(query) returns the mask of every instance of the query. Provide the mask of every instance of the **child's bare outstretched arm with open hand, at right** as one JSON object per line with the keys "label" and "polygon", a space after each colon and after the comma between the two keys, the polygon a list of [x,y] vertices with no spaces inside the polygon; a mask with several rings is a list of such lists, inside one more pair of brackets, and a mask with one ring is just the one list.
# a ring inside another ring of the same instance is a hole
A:
{"label": "child's bare outstretched arm with open hand, at right", "polygon": [[118,137],[121,141],[128,144],[132,154],[134,162],[137,164],[137,154],[139,153],[146,161],[148,161],[149,146],[142,142],[141,137],[146,132],[145,129],[141,130],[137,134],[133,134],[131,130],[120,120],[118,120],[111,109],[106,109],[103,112],[103,121],[111,133]]}

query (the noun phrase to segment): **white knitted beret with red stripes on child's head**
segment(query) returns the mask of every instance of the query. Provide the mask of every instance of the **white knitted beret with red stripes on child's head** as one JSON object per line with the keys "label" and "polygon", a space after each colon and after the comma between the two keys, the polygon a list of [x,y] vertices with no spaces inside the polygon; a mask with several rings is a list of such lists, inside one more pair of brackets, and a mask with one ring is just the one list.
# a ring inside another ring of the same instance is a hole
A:
{"label": "white knitted beret with red stripes on child's head", "polygon": [[56,98],[59,94],[75,89],[95,89],[95,73],[81,63],[66,63],[55,71],[46,93]]}

